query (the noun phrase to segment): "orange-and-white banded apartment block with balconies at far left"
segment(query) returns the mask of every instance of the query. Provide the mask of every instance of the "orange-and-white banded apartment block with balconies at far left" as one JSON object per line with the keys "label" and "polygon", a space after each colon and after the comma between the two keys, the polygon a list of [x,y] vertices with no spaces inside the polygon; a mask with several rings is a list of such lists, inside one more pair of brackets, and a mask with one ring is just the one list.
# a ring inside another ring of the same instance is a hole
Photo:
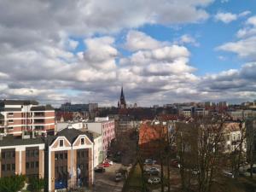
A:
{"label": "orange-and-white banded apartment block with balconies at far left", "polygon": [[53,135],[55,110],[50,106],[39,106],[35,101],[0,101],[0,132],[2,135],[20,136],[22,133]]}

